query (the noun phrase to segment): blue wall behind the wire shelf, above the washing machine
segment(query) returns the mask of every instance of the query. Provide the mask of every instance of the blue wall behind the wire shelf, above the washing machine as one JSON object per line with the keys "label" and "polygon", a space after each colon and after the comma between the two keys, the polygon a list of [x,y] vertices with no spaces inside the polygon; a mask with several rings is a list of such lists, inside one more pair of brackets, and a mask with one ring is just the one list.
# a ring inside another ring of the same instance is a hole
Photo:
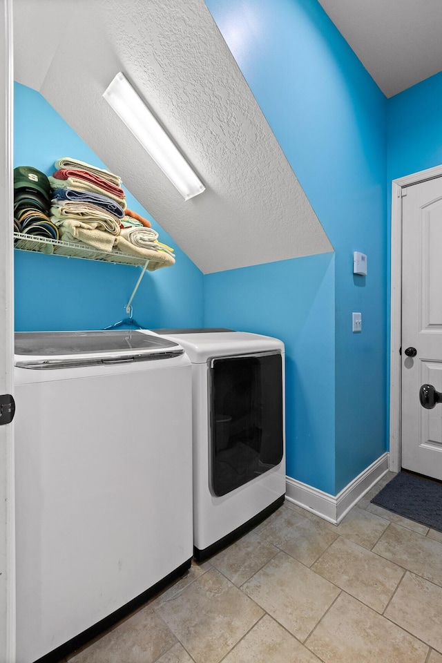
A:
{"label": "blue wall behind the wire shelf, above the washing machine", "polygon": [[[52,175],[60,157],[106,168],[44,97],[15,84],[15,166],[35,166]],[[202,272],[133,198],[123,182],[129,209],[149,218],[160,240],[175,248],[176,264],[146,272],[133,300],[134,318],[144,327],[200,327]],[[15,251],[15,328],[102,329],[126,317],[139,267],[108,265],[42,253]]]}

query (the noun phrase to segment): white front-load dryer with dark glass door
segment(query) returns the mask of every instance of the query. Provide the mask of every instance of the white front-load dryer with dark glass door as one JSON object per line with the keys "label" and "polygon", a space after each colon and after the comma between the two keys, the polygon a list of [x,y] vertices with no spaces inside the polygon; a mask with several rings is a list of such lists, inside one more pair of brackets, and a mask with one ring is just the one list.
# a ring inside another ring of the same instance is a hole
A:
{"label": "white front-load dryer with dark glass door", "polygon": [[192,363],[193,550],[205,559],[285,496],[285,348],[229,329],[155,329]]}

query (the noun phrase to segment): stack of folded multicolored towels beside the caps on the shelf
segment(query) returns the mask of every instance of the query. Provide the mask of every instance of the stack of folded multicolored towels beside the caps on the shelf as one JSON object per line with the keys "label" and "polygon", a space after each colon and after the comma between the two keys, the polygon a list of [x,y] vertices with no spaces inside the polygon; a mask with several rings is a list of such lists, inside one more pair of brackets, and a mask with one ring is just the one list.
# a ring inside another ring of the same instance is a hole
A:
{"label": "stack of folded multicolored towels beside the caps on the shelf", "polygon": [[118,175],[70,157],[59,159],[55,168],[48,178],[50,220],[61,239],[149,260],[149,271],[175,263],[173,249],[158,241],[151,222],[126,208]]}

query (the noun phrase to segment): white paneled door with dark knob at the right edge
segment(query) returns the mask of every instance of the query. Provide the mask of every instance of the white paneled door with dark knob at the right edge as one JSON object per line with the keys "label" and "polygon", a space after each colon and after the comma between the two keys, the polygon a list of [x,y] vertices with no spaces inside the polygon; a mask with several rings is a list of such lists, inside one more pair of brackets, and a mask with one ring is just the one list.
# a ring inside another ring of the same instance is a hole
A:
{"label": "white paneled door with dark knob at the right edge", "polygon": [[402,193],[401,465],[442,479],[442,403],[419,399],[422,385],[442,392],[442,177]]}

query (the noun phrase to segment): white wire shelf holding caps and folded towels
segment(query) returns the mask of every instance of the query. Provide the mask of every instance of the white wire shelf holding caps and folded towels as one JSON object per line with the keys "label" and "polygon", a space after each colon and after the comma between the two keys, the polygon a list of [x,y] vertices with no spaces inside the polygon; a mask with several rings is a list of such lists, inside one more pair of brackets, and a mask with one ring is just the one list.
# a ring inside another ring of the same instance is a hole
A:
{"label": "white wire shelf holding caps and folded towels", "polygon": [[50,240],[46,237],[37,237],[26,233],[14,233],[14,248],[21,251],[38,251],[39,253],[65,256],[66,258],[114,262],[117,265],[136,265],[138,267],[146,264],[145,258],[131,256],[128,253],[122,253],[122,251],[99,251],[99,249],[89,247],[88,244]]}

